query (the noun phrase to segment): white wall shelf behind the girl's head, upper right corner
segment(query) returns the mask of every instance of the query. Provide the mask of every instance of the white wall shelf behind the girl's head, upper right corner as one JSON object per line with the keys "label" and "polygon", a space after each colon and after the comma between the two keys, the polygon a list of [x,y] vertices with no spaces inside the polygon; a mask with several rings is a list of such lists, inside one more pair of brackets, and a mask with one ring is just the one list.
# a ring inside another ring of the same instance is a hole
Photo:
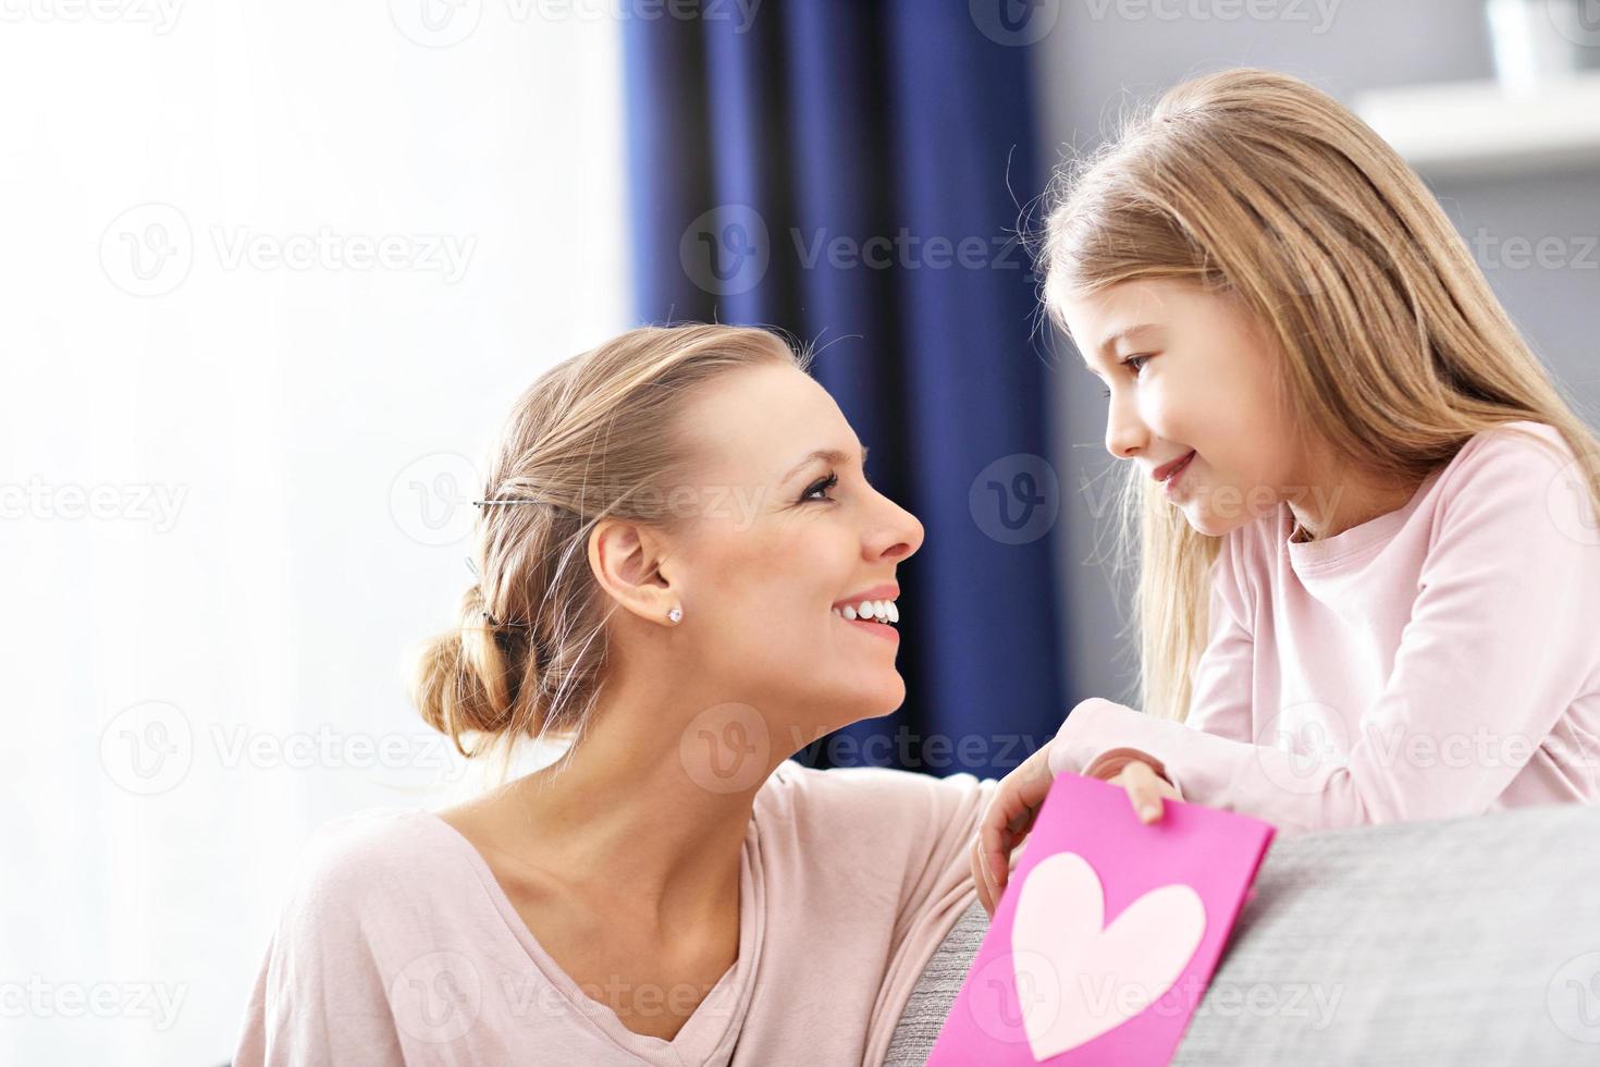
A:
{"label": "white wall shelf behind the girl's head, upper right corner", "polygon": [[1365,93],[1355,112],[1429,178],[1600,165],[1600,72],[1509,94],[1498,82]]}

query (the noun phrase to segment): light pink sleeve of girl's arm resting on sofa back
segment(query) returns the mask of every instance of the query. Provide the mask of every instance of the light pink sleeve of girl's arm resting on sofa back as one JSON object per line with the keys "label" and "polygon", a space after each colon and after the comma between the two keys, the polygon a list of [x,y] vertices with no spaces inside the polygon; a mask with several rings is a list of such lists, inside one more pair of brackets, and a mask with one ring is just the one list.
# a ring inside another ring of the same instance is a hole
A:
{"label": "light pink sleeve of girl's arm resting on sofa back", "polygon": [[1248,697],[1221,664],[1248,632],[1222,619],[1206,653],[1219,669],[1202,678],[1190,723],[1090,699],[1051,742],[1051,769],[1082,773],[1104,749],[1142,749],[1187,800],[1285,832],[1486,811],[1595,669],[1600,536],[1587,494],[1563,491],[1562,459],[1539,445],[1494,442],[1459,467],[1389,683],[1358,736],[1288,752],[1235,734]]}

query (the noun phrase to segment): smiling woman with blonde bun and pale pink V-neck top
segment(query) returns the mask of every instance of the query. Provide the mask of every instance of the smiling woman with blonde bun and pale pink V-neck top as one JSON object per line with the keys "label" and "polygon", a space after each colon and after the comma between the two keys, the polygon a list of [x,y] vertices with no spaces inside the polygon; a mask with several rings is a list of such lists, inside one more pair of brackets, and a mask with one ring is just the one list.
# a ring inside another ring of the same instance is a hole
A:
{"label": "smiling woman with blonde bun and pale pink V-neck top", "polygon": [[923,536],[805,370],[760,330],[643,328],[517,402],[414,697],[470,755],[571,744],[326,825],[238,1067],[882,1061],[995,782],[786,761],[899,707]]}

